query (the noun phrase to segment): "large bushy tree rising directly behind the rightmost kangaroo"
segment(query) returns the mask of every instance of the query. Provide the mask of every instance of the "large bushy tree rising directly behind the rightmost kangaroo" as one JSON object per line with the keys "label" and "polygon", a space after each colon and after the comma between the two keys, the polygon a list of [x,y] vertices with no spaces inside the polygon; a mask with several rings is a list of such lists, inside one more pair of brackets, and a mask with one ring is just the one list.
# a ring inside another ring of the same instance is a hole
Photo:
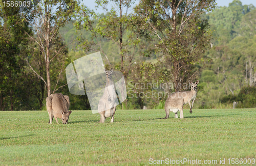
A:
{"label": "large bushy tree rising directly behind the rightmost kangaroo", "polygon": [[135,8],[143,20],[138,26],[158,40],[155,52],[168,70],[175,91],[182,90],[183,83],[196,76],[196,65],[206,61],[204,52],[210,45],[211,32],[207,20],[200,16],[215,5],[215,0],[141,0]]}

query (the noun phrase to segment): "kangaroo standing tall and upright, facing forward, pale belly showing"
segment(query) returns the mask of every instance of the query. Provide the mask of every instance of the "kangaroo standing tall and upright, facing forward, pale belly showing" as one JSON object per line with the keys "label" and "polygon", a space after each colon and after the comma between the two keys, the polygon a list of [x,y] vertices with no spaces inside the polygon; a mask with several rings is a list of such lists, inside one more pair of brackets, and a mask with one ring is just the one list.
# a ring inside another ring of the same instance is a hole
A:
{"label": "kangaroo standing tall and upright, facing forward, pale belly showing", "polygon": [[109,71],[104,69],[106,73],[106,85],[102,97],[99,100],[98,104],[98,113],[100,114],[99,123],[104,123],[105,119],[111,117],[111,123],[114,122],[114,115],[116,112],[115,100],[116,100],[116,91],[114,82],[112,81],[112,72],[113,68]]}

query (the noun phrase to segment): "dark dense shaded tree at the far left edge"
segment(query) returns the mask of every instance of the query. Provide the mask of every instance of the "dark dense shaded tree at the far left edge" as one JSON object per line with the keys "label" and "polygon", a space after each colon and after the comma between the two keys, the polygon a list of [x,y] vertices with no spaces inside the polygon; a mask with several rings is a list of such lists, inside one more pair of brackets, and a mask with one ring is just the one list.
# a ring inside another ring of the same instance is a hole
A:
{"label": "dark dense shaded tree at the far left edge", "polygon": [[[28,52],[29,26],[16,13],[0,7],[0,109],[17,110],[31,108],[27,105],[31,88],[27,87],[31,78],[25,76],[24,57]],[[20,103],[26,103],[22,105]]]}

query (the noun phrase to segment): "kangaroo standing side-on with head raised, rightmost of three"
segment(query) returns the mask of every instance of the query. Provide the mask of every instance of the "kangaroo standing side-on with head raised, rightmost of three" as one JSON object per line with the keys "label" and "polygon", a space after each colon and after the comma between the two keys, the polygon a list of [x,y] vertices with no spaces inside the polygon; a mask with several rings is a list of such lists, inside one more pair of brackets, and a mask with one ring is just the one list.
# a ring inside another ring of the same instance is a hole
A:
{"label": "kangaroo standing side-on with head raised, rightmost of three", "polygon": [[[164,109],[165,109],[165,119],[169,118],[170,110],[175,113],[175,118],[178,118],[178,110],[180,110],[180,118],[183,117],[183,105],[188,103],[190,110],[189,112],[192,113],[192,107],[194,104],[194,101],[197,96],[197,85],[199,83],[199,80],[197,80],[195,83],[192,81],[188,81],[191,85],[191,91],[180,91],[170,94],[170,96],[166,99]],[[192,105],[190,104],[190,101],[192,101]]]}

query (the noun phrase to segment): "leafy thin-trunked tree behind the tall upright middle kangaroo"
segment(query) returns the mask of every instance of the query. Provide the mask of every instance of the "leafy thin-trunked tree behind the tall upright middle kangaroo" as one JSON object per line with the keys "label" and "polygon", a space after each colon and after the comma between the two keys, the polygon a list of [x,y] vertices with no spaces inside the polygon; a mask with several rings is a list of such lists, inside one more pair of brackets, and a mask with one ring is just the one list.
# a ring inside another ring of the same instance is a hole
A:
{"label": "leafy thin-trunked tree behind the tall upright middle kangaroo", "polygon": [[[79,38],[81,46],[85,50],[100,50],[104,54],[108,65],[120,70],[126,79],[131,72],[135,62],[135,56],[139,54],[140,44],[139,27],[137,26],[137,16],[133,13],[133,0],[97,0],[98,8],[103,8],[105,14],[98,14],[95,11],[84,9],[84,16],[77,24],[77,29],[84,29],[91,33],[91,40]],[[112,5],[111,9],[107,6]],[[90,18],[89,18],[90,16]],[[78,22],[78,21],[77,21]],[[82,23],[82,26],[81,24]],[[111,43],[114,52],[118,52],[119,58],[111,63],[106,50],[103,49],[105,41]]]}

